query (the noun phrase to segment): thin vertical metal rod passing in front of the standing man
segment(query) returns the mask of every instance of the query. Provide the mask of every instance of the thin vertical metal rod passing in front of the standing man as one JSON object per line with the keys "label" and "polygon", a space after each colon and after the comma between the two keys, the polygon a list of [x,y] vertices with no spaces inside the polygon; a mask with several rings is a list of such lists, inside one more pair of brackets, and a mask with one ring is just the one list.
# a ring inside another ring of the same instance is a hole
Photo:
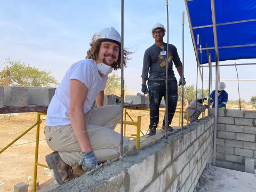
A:
{"label": "thin vertical metal rod passing in front of the standing man", "polygon": [[168,122],[168,105],[169,105],[169,89],[168,89],[168,52],[169,52],[169,13],[168,13],[168,0],[165,0],[167,12],[167,49],[166,49],[166,80],[165,80],[165,138],[167,138]]}

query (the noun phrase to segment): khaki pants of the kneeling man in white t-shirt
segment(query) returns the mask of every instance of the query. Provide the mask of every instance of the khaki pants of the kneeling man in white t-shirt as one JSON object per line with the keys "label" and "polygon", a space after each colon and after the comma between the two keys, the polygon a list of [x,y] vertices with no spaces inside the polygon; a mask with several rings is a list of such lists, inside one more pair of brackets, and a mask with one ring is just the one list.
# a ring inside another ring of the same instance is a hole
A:
{"label": "khaki pants of the kneeling man in white t-shirt", "polygon": [[[119,156],[120,134],[115,132],[121,119],[121,107],[109,105],[89,110],[85,114],[87,135],[98,162]],[[45,126],[46,142],[54,151],[59,151],[61,159],[68,165],[82,165],[82,151],[71,125]],[[124,153],[129,143],[124,137]]]}

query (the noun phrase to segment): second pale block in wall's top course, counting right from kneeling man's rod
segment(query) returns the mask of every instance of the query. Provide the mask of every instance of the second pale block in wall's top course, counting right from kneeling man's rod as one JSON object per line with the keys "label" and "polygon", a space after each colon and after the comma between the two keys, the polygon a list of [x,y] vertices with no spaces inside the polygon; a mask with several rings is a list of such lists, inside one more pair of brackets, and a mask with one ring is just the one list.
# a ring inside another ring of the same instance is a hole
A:
{"label": "second pale block in wall's top course, counting right from kneeling man's rod", "polygon": [[172,153],[171,153],[172,146],[167,145],[162,150],[156,153],[157,155],[157,172],[160,173],[165,169],[165,167],[171,162]]}

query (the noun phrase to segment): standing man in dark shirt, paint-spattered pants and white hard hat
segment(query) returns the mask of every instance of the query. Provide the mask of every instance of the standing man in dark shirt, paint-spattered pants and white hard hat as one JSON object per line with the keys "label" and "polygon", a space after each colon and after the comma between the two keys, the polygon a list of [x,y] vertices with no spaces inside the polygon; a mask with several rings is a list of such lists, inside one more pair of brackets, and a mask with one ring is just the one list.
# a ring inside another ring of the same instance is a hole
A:
{"label": "standing man in dark shirt, paint-spattered pants and white hard hat", "polygon": [[[142,69],[142,88],[141,92],[149,93],[150,108],[150,124],[148,137],[156,134],[156,127],[159,123],[159,106],[164,96],[165,99],[165,83],[166,83],[166,51],[167,44],[164,43],[165,28],[161,23],[156,23],[152,28],[152,36],[155,44],[150,46],[144,54]],[[180,75],[179,86],[182,85],[182,63],[180,61],[177,49],[174,45],[168,45],[168,126],[167,131],[173,131],[170,126],[175,113],[178,101],[177,80],[173,72],[173,62]],[[149,77],[148,77],[149,74]],[[148,81],[148,87],[146,82]],[[183,78],[183,85],[185,85]],[[166,101],[165,101],[166,102]],[[161,131],[165,132],[165,119]]]}

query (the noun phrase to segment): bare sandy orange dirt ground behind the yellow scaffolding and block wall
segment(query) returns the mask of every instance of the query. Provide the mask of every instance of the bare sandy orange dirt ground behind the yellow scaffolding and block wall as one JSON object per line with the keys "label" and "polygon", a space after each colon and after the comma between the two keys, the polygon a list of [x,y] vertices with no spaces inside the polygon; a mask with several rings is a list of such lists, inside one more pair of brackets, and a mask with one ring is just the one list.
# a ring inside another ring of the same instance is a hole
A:
{"label": "bare sandy orange dirt ground behind the yellow scaffolding and block wall", "polygon": [[[149,111],[127,110],[127,113],[134,121],[137,121],[137,116],[141,116],[141,130],[146,134],[149,124]],[[160,113],[159,125],[162,124],[164,113]],[[38,163],[46,165],[45,155],[52,153],[52,150],[47,146],[43,127],[45,119],[41,116],[42,123],[39,137],[39,154]],[[37,113],[20,113],[20,114],[5,114],[0,115],[0,149],[8,145],[13,139],[17,138],[22,132],[26,131],[31,125],[36,122]],[[126,116],[126,121],[131,121],[129,116]],[[179,115],[175,115],[172,125],[179,126]],[[116,131],[120,131],[120,125],[116,127]],[[135,126],[126,126],[126,136],[136,133]],[[142,134],[141,134],[142,135]],[[0,163],[2,165],[0,181],[5,183],[5,191],[13,191],[14,185],[19,182],[30,183],[30,190],[33,188],[34,177],[34,158],[35,158],[35,140],[36,127],[30,130],[12,147],[7,148],[0,154]],[[53,183],[53,172],[44,167],[38,166],[37,182],[38,189],[45,188]]]}

